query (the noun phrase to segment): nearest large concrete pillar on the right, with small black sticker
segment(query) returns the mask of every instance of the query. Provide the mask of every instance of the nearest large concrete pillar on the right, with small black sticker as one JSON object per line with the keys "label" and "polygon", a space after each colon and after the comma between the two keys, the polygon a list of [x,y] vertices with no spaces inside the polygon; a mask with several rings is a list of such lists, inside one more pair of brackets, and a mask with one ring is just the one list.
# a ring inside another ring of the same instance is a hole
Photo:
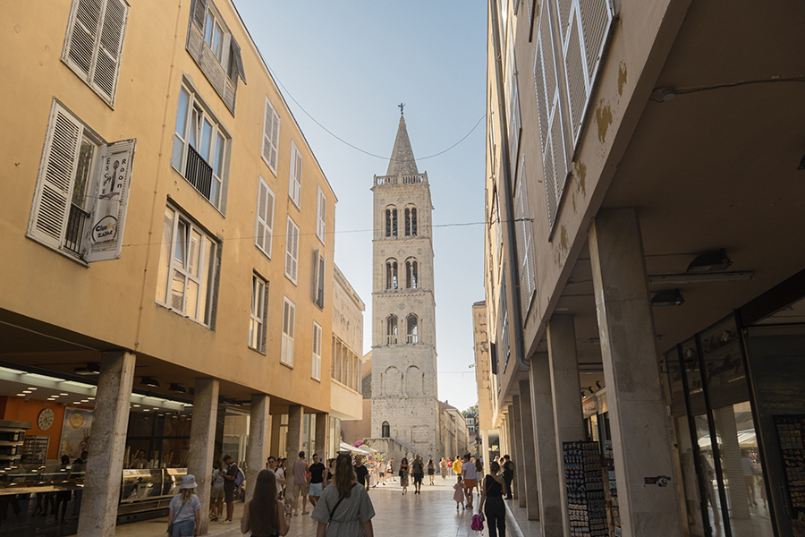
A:
{"label": "nearest large concrete pillar on the right, with small black sticker", "polygon": [[674,463],[635,209],[600,210],[589,228],[589,251],[623,537],[678,537],[674,483],[643,482],[673,476]]}

